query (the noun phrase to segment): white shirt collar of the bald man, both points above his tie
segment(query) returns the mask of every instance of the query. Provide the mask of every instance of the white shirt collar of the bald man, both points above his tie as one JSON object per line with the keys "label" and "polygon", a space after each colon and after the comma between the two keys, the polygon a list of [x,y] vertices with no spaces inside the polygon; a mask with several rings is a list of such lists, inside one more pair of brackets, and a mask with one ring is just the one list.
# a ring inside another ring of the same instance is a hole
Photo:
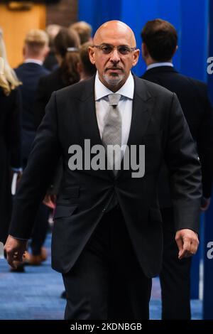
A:
{"label": "white shirt collar of the bald man, both points above his tie", "polygon": [[[124,97],[128,97],[129,99],[133,99],[133,93],[134,93],[134,80],[133,75],[131,72],[129,73],[129,77],[127,78],[124,85],[116,92],[116,94],[121,94]],[[109,88],[104,86],[104,84],[99,80],[98,72],[95,76],[95,82],[94,82],[94,94],[95,94],[95,101],[102,99],[103,97],[106,97],[109,94],[114,94],[114,92],[111,92]]]}

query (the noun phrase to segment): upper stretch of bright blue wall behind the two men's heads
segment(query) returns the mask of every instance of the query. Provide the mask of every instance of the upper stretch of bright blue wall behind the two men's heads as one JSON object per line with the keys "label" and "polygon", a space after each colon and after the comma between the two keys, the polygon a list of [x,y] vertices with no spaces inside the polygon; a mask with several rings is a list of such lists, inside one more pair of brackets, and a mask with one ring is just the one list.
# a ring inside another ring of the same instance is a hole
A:
{"label": "upper stretch of bright blue wall behind the two men's heads", "polygon": [[[141,28],[146,21],[163,18],[178,31],[179,50],[175,67],[185,75],[207,81],[207,23],[209,0],[79,0],[79,20],[92,24],[94,31],[104,22],[118,19],[127,23],[141,48]],[[134,72],[146,69],[140,59]]]}

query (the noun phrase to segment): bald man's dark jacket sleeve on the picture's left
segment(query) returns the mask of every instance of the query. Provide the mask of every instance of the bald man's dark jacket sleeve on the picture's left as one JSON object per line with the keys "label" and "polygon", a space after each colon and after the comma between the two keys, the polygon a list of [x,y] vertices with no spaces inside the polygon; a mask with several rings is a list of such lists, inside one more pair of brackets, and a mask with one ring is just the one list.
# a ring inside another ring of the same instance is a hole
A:
{"label": "bald man's dark jacket sleeve on the picture's left", "polygon": [[60,143],[54,92],[46,107],[43,122],[38,128],[33,148],[28,158],[28,165],[23,172],[14,198],[9,229],[9,234],[13,237],[22,239],[31,237],[38,205],[45,196],[59,157]]}

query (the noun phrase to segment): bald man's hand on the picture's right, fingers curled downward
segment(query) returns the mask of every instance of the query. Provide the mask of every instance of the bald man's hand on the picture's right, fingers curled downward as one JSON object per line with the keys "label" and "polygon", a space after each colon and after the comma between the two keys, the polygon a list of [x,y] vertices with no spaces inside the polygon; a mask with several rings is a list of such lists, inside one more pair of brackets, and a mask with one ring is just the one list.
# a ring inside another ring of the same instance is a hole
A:
{"label": "bald man's hand on the picture's right, fingers curled downward", "polygon": [[189,229],[182,229],[176,232],[175,241],[178,244],[178,259],[190,257],[197,252],[199,240],[197,233]]}

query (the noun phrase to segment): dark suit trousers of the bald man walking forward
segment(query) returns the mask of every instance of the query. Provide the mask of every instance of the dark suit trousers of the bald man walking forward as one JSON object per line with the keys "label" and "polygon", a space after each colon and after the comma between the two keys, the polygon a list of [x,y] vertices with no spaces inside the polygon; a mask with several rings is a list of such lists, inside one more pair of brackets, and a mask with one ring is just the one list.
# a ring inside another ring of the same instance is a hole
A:
{"label": "dark suit trousers of the bald man walking forward", "polygon": [[149,318],[151,279],[143,274],[119,206],[104,214],[77,262],[62,277],[67,320]]}

